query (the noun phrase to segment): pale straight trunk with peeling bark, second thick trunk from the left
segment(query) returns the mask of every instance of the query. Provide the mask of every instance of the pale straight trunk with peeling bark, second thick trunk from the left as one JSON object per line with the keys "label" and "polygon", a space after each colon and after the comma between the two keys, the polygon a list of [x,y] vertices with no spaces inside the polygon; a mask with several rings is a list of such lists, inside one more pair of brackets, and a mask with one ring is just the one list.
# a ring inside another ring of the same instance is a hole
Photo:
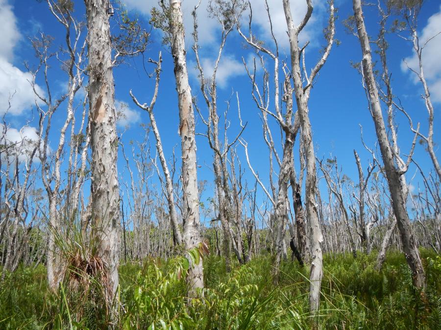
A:
{"label": "pale straight trunk with peeling bark, second thick trunk from the left", "polygon": [[[170,0],[170,30],[172,34],[172,56],[174,77],[178,92],[179,133],[182,148],[182,188],[184,213],[184,245],[191,249],[200,244],[199,198],[197,194],[195,114],[192,93],[188,83],[185,58],[184,25],[182,21],[181,0]],[[203,288],[202,260],[191,264],[187,281],[192,290]]]}

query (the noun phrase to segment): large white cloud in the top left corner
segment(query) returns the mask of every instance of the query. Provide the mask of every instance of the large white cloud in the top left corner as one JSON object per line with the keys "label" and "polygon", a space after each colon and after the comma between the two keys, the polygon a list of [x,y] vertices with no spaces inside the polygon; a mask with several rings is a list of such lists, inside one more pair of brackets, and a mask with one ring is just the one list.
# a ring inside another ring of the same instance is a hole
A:
{"label": "large white cloud in the top left corner", "polygon": [[[12,6],[7,0],[0,0],[0,20],[0,115],[6,111],[19,115],[34,104],[35,95],[29,83],[31,75],[11,63],[14,47],[21,35]],[[41,88],[37,86],[36,89],[43,94]],[[8,110],[9,100],[11,107]]]}

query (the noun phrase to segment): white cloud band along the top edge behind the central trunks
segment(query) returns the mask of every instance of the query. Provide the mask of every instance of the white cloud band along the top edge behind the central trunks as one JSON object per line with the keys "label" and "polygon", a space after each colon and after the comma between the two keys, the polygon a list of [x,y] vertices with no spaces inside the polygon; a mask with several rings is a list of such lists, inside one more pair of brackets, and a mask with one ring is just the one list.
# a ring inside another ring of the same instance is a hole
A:
{"label": "white cloud band along the top edge behind the central trunks", "polygon": [[[168,0],[165,0],[168,2]],[[193,9],[199,0],[183,0],[182,12],[184,19],[184,27],[186,31],[186,44],[189,47],[193,44],[193,16],[191,15]],[[265,9],[264,0],[251,0],[251,7],[253,10],[253,24],[257,25],[259,31],[259,38],[270,40],[270,22],[268,19],[267,11]],[[129,9],[136,9],[141,13],[150,17],[150,10],[154,6],[158,6],[158,1],[155,0],[125,0],[124,3]],[[283,11],[282,0],[269,0],[271,21],[273,26],[274,35],[277,38],[279,45],[282,47],[288,46],[288,36],[286,34],[286,20]],[[313,0],[314,12],[309,24],[305,27],[300,35],[300,41],[305,42],[310,40],[313,43],[315,37],[321,35],[321,27],[318,26],[318,17],[322,15],[325,8],[325,0]],[[205,11],[207,8],[208,0],[202,0],[198,9],[198,37],[199,43],[210,44],[220,40],[220,35],[216,33],[216,29],[219,28],[219,22],[209,17]],[[294,22],[301,21],[306,13],[306,1],[305,0],[291,0],[291,12]],[[244,20],[247,20],[248,14],[245,13]],[[245,25],[244,25],[245,29]],[[244,31],[245,33],[245,31]],[[313,43],[314,44],[314,43]]]}

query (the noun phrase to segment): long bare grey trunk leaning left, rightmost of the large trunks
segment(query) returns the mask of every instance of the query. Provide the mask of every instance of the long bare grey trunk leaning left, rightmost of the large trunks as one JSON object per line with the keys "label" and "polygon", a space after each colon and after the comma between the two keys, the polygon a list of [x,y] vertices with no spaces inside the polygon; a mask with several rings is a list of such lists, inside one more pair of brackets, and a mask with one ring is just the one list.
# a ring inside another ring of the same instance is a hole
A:
{"label": "long bare grey trunk leaning left, rightmost of the large trunks", "polygon": [[403,197],[403,188],[400,185],[400,173],[394,165],[392,147],[388,139],[388,134],[384,124],[383,114],[380,105],[378,90],[375,85],[375,77],[372,68],[372,57],[369,45],[368,33],[363,18],[361,0],[353,0],[353,9],[355,20],[357,22],[358,37],[363,52],[363,75],[368,89],[368,98],[371,107],[372,119],[375,124],[378,143],[380,145],[381,155],[385,166],[385,174],[391,192],[392,208],[397,226],[400,233],[406,260],[412,271],[412,279],[414,286],[423,288],[426,286],[426,279],[422,267],[421,259],[414,240],[414,235],[410,227],[409,215],[406,211],[406,203]]}

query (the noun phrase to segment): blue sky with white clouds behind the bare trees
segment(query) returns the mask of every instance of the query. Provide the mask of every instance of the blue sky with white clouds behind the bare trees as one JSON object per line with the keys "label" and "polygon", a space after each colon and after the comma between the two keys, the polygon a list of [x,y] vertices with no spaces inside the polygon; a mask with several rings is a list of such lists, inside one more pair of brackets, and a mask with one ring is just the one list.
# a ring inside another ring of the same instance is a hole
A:
{"label": "blue sky with white clouds behind the bare trees", "polygon": [[[123,1],[124,2],[124,1]],[[138,16],[141,22],[144,22],[146,28],[149,19],[149,10],[155,1],[153,0],[126,0],[126,8],[131,17]],[[194,5],[194,0],[183,0],[184,19],[186,28],[192,27],[189,20],[190,10]],[[292,0],[294,19],[301,17],[304,12],[305,5],[303,0]],[[210,64],[218,52],[218,44],[220,41],[220,33],[216,22],[208,17],[204,12],[207,1],[202,1],[199,8],[198,16],[199,33],[200,33],[200,55],[204,63],[205,76],[211,76]],[[260,39],[268,41],[268,29],[266,28],[268,20],[263,10],[263,1],[253,0],[251,5],[253,18],[254,33]],[[281,59],[286,57],[289,60],[288,39],[285,34],[286,22],[281,7],[282,1],[270,0],[270,11],[273,17],[276,37],[280,44]],[[325,1],[313,1],[315,3],[315,11],[313,18],[308,25],[305,33],[301,36],[302,41],[309,40],[311,44],[308,46],[306,53],[307,66],[312,67],[319,59],[319,49],[323,44],[322,29],[326,24],[326,6]],[[19,90],[16,98],[16,106],[13,111],[6,115],[7,122],[12,129],[20,130],[26,123],[26,120],[32,118],[32,100],[29,90],[25,84],[25,66],[24,61],[29,63],[35,62],[33,51],[27,37],[36,35],[39,31],[43,31],[55,38],[54,49],[63,42],[63,30],[60,24],[55,21],[50,14],[45,1],[38,2],[36,0],[0,0],[0,18],[4,22],[4,30],[0,35],[0,96],[3,98],[1,107],[4,108],[4,96],[11,92],[11,89]],[[115,4],[117,13],[120,5]],[[350,66],[350,61],[359,62],[361,60],[360,45],[356,37],[348,35],[343,26],[343,19],[347,18],[352,12],[352,1],[336,0],[336,7],[339,9],[339,19],[336,22],[336,38],[341,42],[339,46],[334,46],[326,65],[322,68],[317,79],[317,83],[311,91],[310,118],[313,128],[313,140],[316,153],[319,158],[327,158],[330,155],[337,156],[339,164],[343,166],[343,173],[351,177],[354,181],[358,180],[357,167],[354,161],[353,149],[360,154],[362,166],[364,169],[368,167],[368,161],[371,161],[370,154],[365,150],[360,138],[359,124],[363,125],[365,142],[369,147],[373,147],[376,136],[374,132],[372,118],[367,108],[367,101],[364,90],[361,85],[361,77],[357,71]],[[75,17],[84,19],[83,1],[75,1]],[[365,17],[370,34],[376,34],[377,16],[374,8],[365,9]],[[115,16],[117,18],[117,15]],[[427,0],[419,15],[419,32],[422,36],[429,36],[433,31],[441,31],[441,7],[438,0]],[[246,26],[244,26],[246,30]],[[192,42],[191,30],[186,31],[186,42],[188,49],[188,67],[191,75],[191,86],[194,94],[198,98],[198,104],[202,113],[206,113],[202,97],[199,92],[198,81],[194,69],[194,54],[191,50]],[[427,132],[427,111],[424,107],[423,100],[420,97],[422,88],[420,84],[415,82],[415,78],[408,70],[403,69],[403,58],[411,59],[413,56],[411,44],[403,39],[390,35],[390,49],[388,52],[389,68],[392,72],[393,91],[398,95],[405,105],[406,109],[412,116],[414,122],[420,122],[421,131]],[[148,46],[143,57],[135,59],[127,59],[126,64],[116,67],[115,91],[117,103],[127,103],[129,110],[126,110],[127,118],[124,122],[120,122],[119,130],[124,132],[123,143],[128,141],[141,141],[143,138],[143,130],[139,127],[142,123],[148,123],[148,115],[131,101],[128,94],[130,89],[137,96],[141,103],[149,103],[153,92],[154,79],[149,78],[144,70],[146,67],[148,72],[153,71],[153,66],[148,64],[148,58],[156,59],[159,51],[163,54],[163,71],[161,74],[161,84],[159,88],[158,100],[155,105],[155,116],[164,145],[166,156],[170,157],[173,147],[176,146],[179,151],[180,139],[178,135],[178,110],[177,98],[175,91],[175,82],[173,76],[173,63],[170,51],[166,46],[161,44],[161,33],[152,31],[152,43]],[[250,161],[254,169],[258,171],[264,183],[269,185],[268,180],[268,148],[263,140],[262,124],[259,119],[259,110],[256,108],[251,98],[251,85],[246,76],[245,69],[242,65],[242,57],[249,61],[252,56],[251,49],[245,49],[243,40],[236,31],[229,36],[225,46],[224,56],[221,61],[218,83],[218,106],[223,113],[225,101],[228,100],[232,93],[231,106],[228,112],[228,119],[231,127],[228,131],[230,141],[234,138],[240,127],[238,124],[238,112],[235,93],[239,95],[241,102],[242,118],[248,122],[246,130],[243,134],[244,139],[248,142]],[[441,61],[438,60],[441,52],[441,36],[431,41],[430,46],[426,49],[425,59],[427,60],[426,74],[431,86],[432,97],[435,105],[435,135],[434,140],[437,144],[440,142],[439,127],[440,119],[440,102],[441,102]],[[283,55],[286,54],[286,55]],[[268,66],[272,63],[267,59]],[[51,83],[55,92],[60,92],[65,85],[66,78],[63,76],[59,67],[54,65],[51,69]],[[39,82],[41,84],[41,81]],[[64,84],[64,85],[63,85]],[[271,87],[272,90],[272,87]],[[1,109],[0,113],[4,110]],[[64,112],[63,112],[64,111]],[[205,127],[200,118],[196,115],[196,132],[204,133]],[[65,106],[58,110],[51,130],[51,142],[55,145],[59,130],[66,117]],[[400,113],[396,116],[398,124],[399,144],[401,152],[406,154],[410,149],[413,138],[409,130],[407,120]],[[221,117],[221,121],[223,118]],[[34,122],[34,125],[36,123]],[[276,146],[281,152],[280,131],[277,124],[270,119],[272,134],[276,140]],[[31,123],[32,126],[32,123]],[[124,127],[125,126],[125,127]],[[12,132],[12,131],[11,131]],[[128,144],[127,144],[128,145]],[[151,136],[151,145],[154,146],[153,136]],[[242,161],[242,167],[245,169],[245,177],[249,185],[254,184],[254,179],[249,172],[244,157],[244,150],[238,144],[237,152]],[[178,152],[179,155],[179,152]],[[296,170],[298,172],[298,147],[294,147],[294,155],[296,160]],[[440,152],[437,147],[437,155]],[[213,196],[214,185],[212,184],[213,176],[211,172],[212,152],[208,146],[207,140],[203,136],[197,137],[197,157],[198,179],[205,179],[209,182],[207,191],[203,196],[206,198]],[[432,163],[428,154],[424,149],[417,145],[415,151],[415,159],[425,171],[432,168]],[[122,180],[127,180],[127,171],[124,168],[125,162],[123,157],[119,157],[119,172]],[[278,172],[277,167],[275,171]],[[415,167],[411,167],[408,178],[414,176]],[[274,178],[275,181],[277,178]],[[417,175],[412,184],[418,185],[420,178]],[[89,183],[86,183],[88,187]],[[320,188],[324,188],[324,182],[320,183]],[[262,200],[262,190],[259,190],[258,196]],[[326,199],[327,194],[322,194]]]}

